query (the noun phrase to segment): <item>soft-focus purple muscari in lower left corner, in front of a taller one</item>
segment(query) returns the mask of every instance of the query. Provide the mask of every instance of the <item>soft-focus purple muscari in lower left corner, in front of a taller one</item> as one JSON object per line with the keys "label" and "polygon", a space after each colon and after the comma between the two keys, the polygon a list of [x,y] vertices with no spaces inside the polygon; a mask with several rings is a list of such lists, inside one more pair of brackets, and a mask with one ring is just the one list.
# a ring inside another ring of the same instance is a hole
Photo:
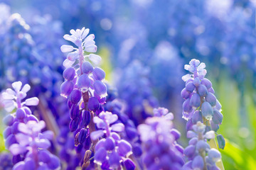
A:
{"label": "soft-focus purple muscari in lower left corner, in front of a taller one", "polygon": [[18,124],[19,132],[15,135],[17,143],[11,145],[9,150],[14,156],[25,154],[25,159],[14,165],[14,169],[57,169],[60,160],[46,149],[50,147],[53,132],[41,133],[46,123],[43,121],[28,121]]}

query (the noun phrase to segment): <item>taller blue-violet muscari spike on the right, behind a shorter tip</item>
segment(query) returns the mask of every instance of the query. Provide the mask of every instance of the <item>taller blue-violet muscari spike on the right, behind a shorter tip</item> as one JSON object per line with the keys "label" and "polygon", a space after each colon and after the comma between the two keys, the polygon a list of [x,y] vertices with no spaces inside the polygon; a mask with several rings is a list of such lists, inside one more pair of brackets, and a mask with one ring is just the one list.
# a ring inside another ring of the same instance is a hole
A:
{"label": "taller blue-violet muscari spike on the right, behind a shorter tip", "polygon": [[214,95],[213,84],[205,78],[206,64],[193,59],[184,68],[192,74],[182,77],[186,81],[186,88],[181,91],[181,96],[185,99],[183,118],[193,124],[206,119],[206,125],[210,125],[209,128],[216,132],[223,115],[220,113],[221,105]]}

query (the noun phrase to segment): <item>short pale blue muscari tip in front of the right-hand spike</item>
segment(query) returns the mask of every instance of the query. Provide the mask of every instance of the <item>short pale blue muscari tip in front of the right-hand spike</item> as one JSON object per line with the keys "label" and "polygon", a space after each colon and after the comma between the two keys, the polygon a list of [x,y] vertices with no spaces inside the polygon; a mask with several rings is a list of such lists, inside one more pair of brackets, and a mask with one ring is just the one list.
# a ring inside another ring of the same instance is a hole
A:
{"label": "short pale blue muscari tip in front of the right-hand spike", "polygon": [[216,162],[221,159],[220,152],[214,148],[210,149],[210,145],[206,142],[214,139],[214,131],[206,132],[206,125],[198,121],[193,125],[193,131],[188,131],[187,137],[191,140],[184,149],[188,162],[184,164],[183,169],[219,169]]}

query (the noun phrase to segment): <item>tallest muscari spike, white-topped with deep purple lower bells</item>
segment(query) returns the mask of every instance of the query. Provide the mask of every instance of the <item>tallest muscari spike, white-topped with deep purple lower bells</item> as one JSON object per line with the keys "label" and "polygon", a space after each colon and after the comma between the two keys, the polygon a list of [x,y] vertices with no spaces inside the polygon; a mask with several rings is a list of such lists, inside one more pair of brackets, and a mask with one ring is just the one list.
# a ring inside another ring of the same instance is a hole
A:
{"label": "tallest muscari spike, white-topped with deep purple lower bells", "polygon": [[[91,149],[97,143],[96,138],[90,134],[95,132],[95,124],[92,119],[103,111],[102,105],[106,101],[107,86],[105,72],[100,67],[93,65],[99,64],[101,57],[90,52],[96,52],[95,35],[88,35],[89,29],[70,30],[71,35],[64,35],[65,40],[73,42],[78,48],[72,45],[60,47],[62,52],[69,52],[67,59],[63,62],[65,70],[63,77],[65,81],[60,86],[60,95],[68,98],[70,108],[70,131],[75,132],[75,147],[80,147],[77,152],[84,153],[85,149]],[[97,117],[95,117],[97,118]],[[103,135],[102,132],[97,135]],[[95,154],[95,153],[93,153]],[[92,155],[93,155],[92,154]],[[92,162],[93,164],[93,162]],[[90,162],[83,160],[82,169],[90,165]]]}

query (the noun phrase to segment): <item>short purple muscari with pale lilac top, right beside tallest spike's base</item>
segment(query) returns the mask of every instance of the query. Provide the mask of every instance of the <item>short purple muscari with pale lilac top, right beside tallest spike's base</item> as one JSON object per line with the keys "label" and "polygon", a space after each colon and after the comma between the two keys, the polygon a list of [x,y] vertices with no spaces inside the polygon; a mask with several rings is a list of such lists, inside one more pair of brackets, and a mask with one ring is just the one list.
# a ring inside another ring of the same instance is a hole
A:
{"label": "short purple muscari with pale lilac top, right beside tallest spike's base", "polygon": [[110,112],[102,112],[99,117],[93,118],[99,130],[90,134],[91,139],[97,140],[105,135],[95,146],[94,162],[102,169],[119,169],[123,166],[132,170],[135,165],[128,158],[132,154],[132,146],[117,134],[124,130],[122,123],[115,123],[117,119],[117,115]]}

